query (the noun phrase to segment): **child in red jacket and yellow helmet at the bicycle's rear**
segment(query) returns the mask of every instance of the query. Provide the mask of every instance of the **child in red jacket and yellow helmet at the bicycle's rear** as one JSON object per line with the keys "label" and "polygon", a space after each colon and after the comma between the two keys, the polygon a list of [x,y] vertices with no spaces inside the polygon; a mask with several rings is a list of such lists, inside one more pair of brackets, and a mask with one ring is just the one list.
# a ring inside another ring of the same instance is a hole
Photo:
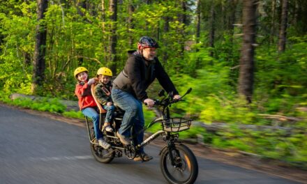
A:
{"label": "child in red jacket and yellow helmet at the bicycle's rear", "polygon": [[74,76],[77,79],[75,95],[77,95],[80,110],[84,116],[93,120],[93,130],[98,144],[104,149],[108,149],[111,145],[103,139],[103,133],[99,129],[99,114],[96,111],[97,105],[91,95],[91,84],[96,82],[95,78],[88,79],[89,71],[84,67],[76,68]]}

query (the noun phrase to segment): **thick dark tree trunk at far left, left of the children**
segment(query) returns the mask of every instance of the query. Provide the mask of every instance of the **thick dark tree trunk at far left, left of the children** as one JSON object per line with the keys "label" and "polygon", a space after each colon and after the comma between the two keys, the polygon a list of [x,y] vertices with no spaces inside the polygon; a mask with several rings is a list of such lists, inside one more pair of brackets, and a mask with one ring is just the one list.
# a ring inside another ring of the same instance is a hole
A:
{"label": "thick dark tree trunk at far left, left of the children", "polygon": [[33,77],[31,86],[31,91],[33,94],[38,92],[38,87],[42,86],[45,79],[45,52],[47,38],[47,28],[43,20],[45,18],[48,1],[38,0],[37,3],[38,25],[36,26],[36,45],[34,51]]}

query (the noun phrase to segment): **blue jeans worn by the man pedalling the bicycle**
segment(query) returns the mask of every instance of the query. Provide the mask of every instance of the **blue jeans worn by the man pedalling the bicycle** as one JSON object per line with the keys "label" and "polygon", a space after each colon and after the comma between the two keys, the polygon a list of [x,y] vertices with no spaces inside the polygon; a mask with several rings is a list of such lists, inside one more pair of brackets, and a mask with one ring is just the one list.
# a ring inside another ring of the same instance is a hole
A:
{"label": "blue jeans worn by the man pedalling the bicycle", "polygon": [[[121,122],[121,128],[119,128],[119,134],[125,137],[131,136],[131,128],[133,127],[133,134],[136,134],[135,144],[140,144],[144,137],[144,114],[142,102],[137,100],[133,95],[120,89],[112,89],[112,100],[119,108],[125,111],[123,114],[123,121]],[[140,148],[140,152],[144,152],[143,148]]]}

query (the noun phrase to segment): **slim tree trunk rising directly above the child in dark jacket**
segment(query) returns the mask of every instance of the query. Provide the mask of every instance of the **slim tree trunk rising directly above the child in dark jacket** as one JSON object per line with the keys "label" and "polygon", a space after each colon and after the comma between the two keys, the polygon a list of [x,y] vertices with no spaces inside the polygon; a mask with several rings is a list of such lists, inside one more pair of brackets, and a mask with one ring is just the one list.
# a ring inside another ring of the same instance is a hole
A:
{"label": "slim tree trunk rising directly above the child in dark jacket", "polygon": [[110,1],[110,69],[113,73],[117,72],[117,52],[116,52],[116,46],[117,46],[117,0],[111,0]]}

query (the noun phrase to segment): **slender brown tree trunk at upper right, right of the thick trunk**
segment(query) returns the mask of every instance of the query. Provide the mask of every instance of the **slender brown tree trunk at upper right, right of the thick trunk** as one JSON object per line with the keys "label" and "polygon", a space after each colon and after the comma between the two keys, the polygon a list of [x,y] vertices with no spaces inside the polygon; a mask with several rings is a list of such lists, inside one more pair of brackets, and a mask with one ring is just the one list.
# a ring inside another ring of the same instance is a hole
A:
{"label": "slender brown tree trunk at upper right, right of the thick trunk", "polygon": [[286,38],[287,38],[287,0],[283,0],[281,17],[280,17],[278,52],[285,52]]}

